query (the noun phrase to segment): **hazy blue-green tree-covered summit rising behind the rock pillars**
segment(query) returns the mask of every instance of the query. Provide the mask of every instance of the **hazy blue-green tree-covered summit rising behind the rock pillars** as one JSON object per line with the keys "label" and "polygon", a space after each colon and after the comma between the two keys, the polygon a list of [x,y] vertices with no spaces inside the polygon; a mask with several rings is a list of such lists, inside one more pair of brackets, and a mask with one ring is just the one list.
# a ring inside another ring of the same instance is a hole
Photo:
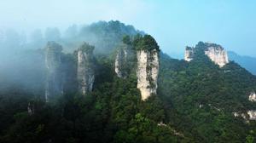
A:
{"label": "hazy blue-green tree-covered summit rising behind the rock pillars", "polygon": [[[73,30],[74,31],[74,30]],[[144,34],[131,25],[125,25],[118,20],[98,21],[89,26],[83,26],[74,34],[66,34],[67,39],[62,39],[64,50],[73,51],[84,41],[96,47],[97,54],[111,54],[125,35],[135,36]]]}

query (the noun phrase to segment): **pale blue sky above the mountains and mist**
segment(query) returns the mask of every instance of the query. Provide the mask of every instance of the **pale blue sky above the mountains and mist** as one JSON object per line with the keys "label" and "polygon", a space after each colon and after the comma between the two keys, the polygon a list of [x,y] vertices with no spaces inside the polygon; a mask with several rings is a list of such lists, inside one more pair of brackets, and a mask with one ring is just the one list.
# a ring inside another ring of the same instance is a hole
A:
{"label": "pale blue sky above the mountains and mist", "polygon": [[0,0],[0,28],[20,31],[120,20],[155,37],[168,54],[199,41],[256,57],[253,0]]}

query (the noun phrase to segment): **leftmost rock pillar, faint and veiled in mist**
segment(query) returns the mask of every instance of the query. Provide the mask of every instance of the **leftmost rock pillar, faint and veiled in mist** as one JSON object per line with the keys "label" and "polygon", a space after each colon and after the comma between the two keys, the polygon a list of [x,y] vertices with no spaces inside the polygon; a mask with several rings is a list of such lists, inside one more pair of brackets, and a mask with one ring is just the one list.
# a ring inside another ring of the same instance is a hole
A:
{"label": "leftmost rock pillar, faint and veiled in mist", "polygon": [[61,73],[61,45],[55,42],[47,43],[45,48],[46,86],[45,100],[55,95],[63,94],[63,81]]}

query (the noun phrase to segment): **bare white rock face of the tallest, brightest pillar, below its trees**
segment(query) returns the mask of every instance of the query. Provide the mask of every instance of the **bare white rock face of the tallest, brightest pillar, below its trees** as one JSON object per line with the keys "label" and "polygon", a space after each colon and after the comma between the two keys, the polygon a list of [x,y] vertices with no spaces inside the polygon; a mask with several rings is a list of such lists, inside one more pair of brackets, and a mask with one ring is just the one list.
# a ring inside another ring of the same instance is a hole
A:
{"label": "bare white rock face of the tallest, brightest pillar, below its trees", "polygon": [[159,57],[156,50],[137,51],[137,89],[140,89],[142,100],[156,94],[159,72]]}

